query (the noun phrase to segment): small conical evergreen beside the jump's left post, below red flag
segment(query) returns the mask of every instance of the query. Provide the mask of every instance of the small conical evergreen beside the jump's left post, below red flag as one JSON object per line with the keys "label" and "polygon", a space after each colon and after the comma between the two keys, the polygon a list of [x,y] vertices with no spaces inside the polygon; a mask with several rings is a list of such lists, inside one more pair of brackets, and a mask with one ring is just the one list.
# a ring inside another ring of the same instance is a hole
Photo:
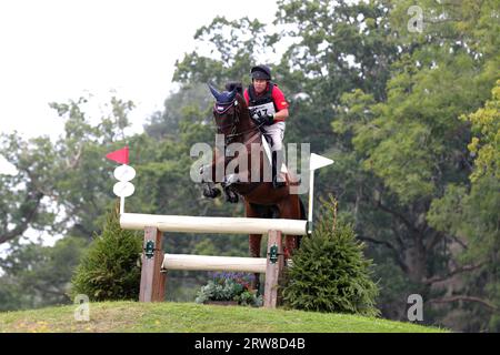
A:
{"label": "small conical evergreen beside the jump's left post, below red flag", "polygon": [[141,251],[141,239],[120,227],[118,209],[113,209],[74,272],[72,296],[86,294],[97,302],[138,300]]}

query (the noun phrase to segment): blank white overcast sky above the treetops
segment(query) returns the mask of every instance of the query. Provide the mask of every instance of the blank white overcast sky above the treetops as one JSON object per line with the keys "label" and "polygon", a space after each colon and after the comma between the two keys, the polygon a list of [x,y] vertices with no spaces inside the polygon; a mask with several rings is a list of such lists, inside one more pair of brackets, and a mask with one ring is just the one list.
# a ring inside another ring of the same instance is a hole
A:
{"label": "blank white overcast sky above the treetops", "polygon": [[91,93],[106,103],[111,90],[138,105],[140,128],[174,88],[174,62],[196,49],[198,28],[218,14],[270,23],[276,10],[272,0],[1,1],[0,129],[56,136],[49,102]]}

